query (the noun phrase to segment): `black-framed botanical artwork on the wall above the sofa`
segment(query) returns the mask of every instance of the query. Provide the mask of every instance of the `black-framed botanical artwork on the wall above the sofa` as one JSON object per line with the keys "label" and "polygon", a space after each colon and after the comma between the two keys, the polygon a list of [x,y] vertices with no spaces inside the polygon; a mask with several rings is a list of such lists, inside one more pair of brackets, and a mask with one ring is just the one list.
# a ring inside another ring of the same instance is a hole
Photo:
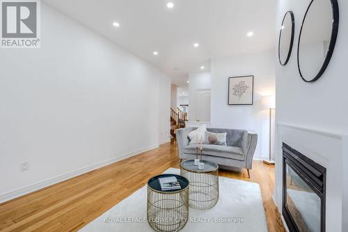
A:
{"label": "black-framed botanical artwork on the wall above the sofa", "polygon": [[228,105],[253,105],[254,76],[228,78]]}

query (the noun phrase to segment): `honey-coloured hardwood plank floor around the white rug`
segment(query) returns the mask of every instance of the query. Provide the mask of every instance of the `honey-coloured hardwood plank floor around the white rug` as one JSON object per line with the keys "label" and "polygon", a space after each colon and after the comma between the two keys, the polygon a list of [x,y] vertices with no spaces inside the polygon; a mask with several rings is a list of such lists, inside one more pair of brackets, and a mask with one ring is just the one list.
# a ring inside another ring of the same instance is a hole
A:
{"label": "honey-coloured hardwood plank floor around the white rug", "polygon": [[[179,167],[173,142],[1,203],[0,231],[77,231],[169,167]],[[246,170],[219,175],[258,183],[269,231],[285,231],[271,199],[274,167],[254,161],[250,179]]]}

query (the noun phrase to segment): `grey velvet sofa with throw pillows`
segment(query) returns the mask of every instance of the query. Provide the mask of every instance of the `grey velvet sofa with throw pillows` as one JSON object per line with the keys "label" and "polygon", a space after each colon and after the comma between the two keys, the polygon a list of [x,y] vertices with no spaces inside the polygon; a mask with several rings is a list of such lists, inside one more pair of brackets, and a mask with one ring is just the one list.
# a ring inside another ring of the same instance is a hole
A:
{"label": "grey velvet sofa with throw pillows", "polygon": [[[196,144],[189,145],[189,137],[187,137],[189,132],[196,129],[196,127],[186,127],[175,131],[179,157],[182,160],[191,160],[196,157]],[[207,128],[207,131],[227,132],[227,146],[203,144],[203,160],[219,164],[222,169],[245,168],[250,178],[249,169],[252,168],[258,134],[253,130]]]}

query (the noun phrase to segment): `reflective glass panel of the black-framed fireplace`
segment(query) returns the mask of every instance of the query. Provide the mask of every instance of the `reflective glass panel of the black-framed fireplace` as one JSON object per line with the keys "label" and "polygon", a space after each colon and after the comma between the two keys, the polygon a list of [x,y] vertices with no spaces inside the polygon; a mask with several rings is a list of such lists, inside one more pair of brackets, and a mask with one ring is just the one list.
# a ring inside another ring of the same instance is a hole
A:
{"label": "reflective glass panel of the black-framed fireplace", "polygon": [[321,217],[321,199],[308,184],[289,166],[286,165],[287,209],[299,231],[319,232]]}

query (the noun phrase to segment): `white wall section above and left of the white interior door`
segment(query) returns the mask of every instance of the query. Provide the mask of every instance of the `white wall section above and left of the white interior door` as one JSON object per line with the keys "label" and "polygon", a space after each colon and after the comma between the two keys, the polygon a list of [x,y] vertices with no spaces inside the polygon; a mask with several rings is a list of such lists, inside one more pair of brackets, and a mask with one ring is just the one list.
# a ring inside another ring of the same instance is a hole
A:
{"label": "white wall section above and left of the white interior door", "polygon": [[198,89],[212,88],[210,72],[189,73],[189,121],[196,121],[196,91]]}

